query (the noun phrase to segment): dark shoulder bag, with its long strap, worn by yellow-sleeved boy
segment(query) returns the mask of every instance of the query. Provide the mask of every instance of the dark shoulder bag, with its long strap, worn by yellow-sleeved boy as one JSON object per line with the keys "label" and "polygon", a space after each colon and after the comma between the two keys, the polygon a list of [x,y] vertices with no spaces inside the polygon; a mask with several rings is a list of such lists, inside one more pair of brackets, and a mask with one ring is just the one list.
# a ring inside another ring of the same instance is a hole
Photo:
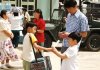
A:
{"label": "dark shoulder bag, with its long strap, worn by yellow-sleeved boy", "polygon": [[[30,42],[32,45],[31,37],[30,37]],[[32,48],[33,48],[33,45],[32,45]],[[43,57],[41,52],[39,51],[36,53],[34,51],[34,48],[33,48],[33,52],[34,52],[34,56],[35,56],[35,61],[31,62],[31,67],[30,67],[31,70],[52,70],[52,65],[51,65],[49,56]]]}

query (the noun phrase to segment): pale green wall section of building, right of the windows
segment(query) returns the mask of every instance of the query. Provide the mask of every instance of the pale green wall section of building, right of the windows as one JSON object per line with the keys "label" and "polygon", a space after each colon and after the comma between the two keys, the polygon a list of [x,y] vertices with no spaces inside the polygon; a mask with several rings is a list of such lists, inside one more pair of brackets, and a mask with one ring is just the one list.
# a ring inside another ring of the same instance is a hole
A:
{"label": "pale green wall section of building, right of the windows", "polygon": [[[52,11],[59,6],[59,0],[52,0]],[[45,20],[50,19],[50,0],[37,0],[37,8],[43,12]]]}

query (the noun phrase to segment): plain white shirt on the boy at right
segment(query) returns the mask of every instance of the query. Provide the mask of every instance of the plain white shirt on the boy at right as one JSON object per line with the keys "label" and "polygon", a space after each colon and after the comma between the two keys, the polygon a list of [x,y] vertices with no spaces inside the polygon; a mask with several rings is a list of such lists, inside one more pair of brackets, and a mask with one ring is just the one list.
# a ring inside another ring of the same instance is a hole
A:
{"label": "plain white shirt on the boy at right", "polygon": [[77,54],[79,45],[69,47],[63,54],[65,54],[68,59],[62,61],[61,70],[78,70],[77,66]]}

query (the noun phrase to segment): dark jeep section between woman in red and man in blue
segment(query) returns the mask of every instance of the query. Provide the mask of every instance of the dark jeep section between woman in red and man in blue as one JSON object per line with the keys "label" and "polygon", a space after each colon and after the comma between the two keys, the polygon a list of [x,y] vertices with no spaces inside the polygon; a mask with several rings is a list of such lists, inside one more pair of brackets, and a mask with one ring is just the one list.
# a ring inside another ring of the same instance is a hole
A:
{"label": "dark jeep section between woman in red and man in blue", "polygon": [[63,20],[64,13],[64,9],[53,10],[51,20],[46,23],[45,46],[50,47],[52,41],[57,41],[59,39],[58,32],[65,29],[65,21]]}

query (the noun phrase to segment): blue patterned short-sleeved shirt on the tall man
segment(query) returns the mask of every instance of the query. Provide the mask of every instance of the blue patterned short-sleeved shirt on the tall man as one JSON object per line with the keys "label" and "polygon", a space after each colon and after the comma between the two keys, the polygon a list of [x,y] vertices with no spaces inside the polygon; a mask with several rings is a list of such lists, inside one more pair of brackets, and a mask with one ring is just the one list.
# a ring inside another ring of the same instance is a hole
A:
{"label": "blue patterned short-sleeved shirt on the tall man", "polygon": [[[74,15],[71,15],[70,13],[67,16],[66,21],[66,32],[87,32],[89,31],[89,25],[87,17],[80,12],[80,10],[77,10],[77,12]],[[68,47],[67,40],[63,40],[63,46]]]}

